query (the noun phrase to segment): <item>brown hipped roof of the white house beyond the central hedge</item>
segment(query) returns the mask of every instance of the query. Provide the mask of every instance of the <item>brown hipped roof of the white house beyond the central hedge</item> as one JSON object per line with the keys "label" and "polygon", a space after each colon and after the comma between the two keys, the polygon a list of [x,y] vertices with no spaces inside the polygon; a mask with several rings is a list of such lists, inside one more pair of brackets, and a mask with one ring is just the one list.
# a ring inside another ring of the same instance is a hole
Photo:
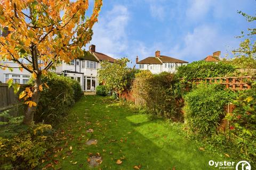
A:
{"label": "brown hipped roof of the white house beyond the central hedge", "polygon": [[137,64],[163,64],[163,63],[188,63],[177,58],[161,55],[159,57],[147,57],[144,60],[137,62]]}

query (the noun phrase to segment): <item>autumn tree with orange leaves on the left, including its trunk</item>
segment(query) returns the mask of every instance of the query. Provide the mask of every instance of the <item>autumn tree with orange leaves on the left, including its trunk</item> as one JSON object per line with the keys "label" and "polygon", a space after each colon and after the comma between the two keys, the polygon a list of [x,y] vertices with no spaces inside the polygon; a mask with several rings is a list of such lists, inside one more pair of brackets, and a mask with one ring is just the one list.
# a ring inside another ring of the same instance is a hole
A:
{"label": "autumn tree with orange leaves on the left, including its trunk", "polygon": [[0,24],[10,31],[0,37],[0,61],[17,63],[21,71],[27,70],[34,79],[34,87],[20,94],[28,104],[25,124],[33,123],[40,91],[47,86],[41,82],[42,75],[61,62],[69,63],[83,54],[81,48],[91,40],[101,6],[102,0],[95,0],[90,17],[86,17],[89,0],[0,1]]}

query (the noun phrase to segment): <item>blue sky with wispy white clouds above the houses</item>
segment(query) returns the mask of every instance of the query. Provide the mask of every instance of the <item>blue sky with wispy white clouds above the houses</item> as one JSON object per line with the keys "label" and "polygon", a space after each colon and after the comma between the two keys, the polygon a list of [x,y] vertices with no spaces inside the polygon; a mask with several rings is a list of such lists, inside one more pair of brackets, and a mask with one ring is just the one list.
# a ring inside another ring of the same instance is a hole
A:
{"label": "blue sky with wispy white clouds above the houses", "polygon": [[254,0],[103,0],[90,44],[133,63],[156,50],[188,62],[217,50],[224,57],[238,47],[235,36],[255,28],[237,10],[255,15],[255,6]]}

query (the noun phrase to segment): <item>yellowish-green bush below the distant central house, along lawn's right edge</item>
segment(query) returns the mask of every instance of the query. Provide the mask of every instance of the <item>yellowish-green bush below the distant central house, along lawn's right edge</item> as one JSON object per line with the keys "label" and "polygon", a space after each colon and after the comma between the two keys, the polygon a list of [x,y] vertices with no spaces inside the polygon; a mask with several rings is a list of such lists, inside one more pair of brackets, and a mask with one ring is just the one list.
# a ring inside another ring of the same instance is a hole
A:
{"label": "yellowish-green bush below the distant central house, along lawn's right edge", "polygon": [[145,105],[151,114],[161,115],[175,121],[182,120],[180,102],[175,94],[174,75],[163,72],[151,74],[142,71],[136,74],[133,82],[135,103]]}

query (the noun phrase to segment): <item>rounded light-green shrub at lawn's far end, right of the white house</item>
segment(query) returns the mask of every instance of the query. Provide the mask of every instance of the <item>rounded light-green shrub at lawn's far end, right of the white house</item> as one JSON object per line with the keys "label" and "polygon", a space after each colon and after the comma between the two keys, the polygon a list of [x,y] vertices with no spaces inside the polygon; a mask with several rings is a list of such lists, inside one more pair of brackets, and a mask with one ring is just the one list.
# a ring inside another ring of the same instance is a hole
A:
{"label": "rounded light-green shrub at lawn's far end, right of the white house", "polygon": [[121,58],[114,63],[101,62],[101,69],[98,71],[99,81],[104,82],[109,91],[122,93],[131,88],[135,69],[127,67],[127,62],[127,58]]}

